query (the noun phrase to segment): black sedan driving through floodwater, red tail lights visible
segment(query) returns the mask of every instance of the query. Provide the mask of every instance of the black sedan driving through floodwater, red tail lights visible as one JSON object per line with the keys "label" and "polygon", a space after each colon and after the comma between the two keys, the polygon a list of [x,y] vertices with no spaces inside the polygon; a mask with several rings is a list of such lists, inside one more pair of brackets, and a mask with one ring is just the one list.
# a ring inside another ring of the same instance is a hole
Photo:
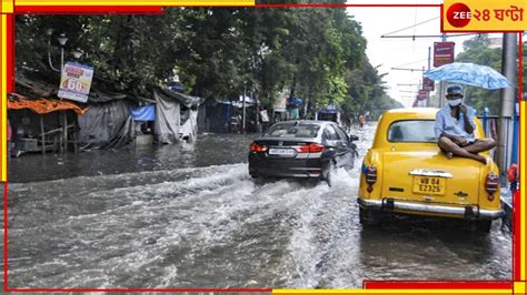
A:
{"label": "black sedan driving through floodwater, red tail lights visible", "polygon": [[331,169],[354,167],[355,140],[334,122],[279,122],[250,144],[249,174],[330,182]]}

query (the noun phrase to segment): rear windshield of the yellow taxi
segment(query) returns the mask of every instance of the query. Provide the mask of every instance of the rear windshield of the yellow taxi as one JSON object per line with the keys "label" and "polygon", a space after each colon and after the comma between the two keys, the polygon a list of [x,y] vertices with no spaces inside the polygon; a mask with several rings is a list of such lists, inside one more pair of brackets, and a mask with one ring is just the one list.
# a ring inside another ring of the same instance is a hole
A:
{"label": "rear windshield of the yellow taxi", "polygon": [[434,120],[397,121],[388,129],[389,142],[437,142]]}

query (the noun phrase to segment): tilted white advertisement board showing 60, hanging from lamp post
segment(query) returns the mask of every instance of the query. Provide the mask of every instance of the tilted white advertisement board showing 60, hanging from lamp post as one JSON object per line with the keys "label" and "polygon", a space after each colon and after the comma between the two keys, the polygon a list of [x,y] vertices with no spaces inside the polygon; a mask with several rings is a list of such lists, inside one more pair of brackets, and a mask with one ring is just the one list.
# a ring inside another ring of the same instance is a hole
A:
{"label": "tilted white advertisement board showing 60, hanging from lamp post", "polygon": [[67,62],[60,78],[58,96],[66,100],[87,102],[92,78],[93,68]]}

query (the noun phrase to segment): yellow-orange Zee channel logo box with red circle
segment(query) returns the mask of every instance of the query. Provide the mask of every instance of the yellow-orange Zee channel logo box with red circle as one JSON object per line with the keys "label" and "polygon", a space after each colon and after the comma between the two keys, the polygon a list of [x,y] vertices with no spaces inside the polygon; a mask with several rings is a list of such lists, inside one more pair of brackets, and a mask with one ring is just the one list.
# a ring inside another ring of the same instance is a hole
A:
{"label": "yellow-orange Zee channel logo box with red circle", "polygon": [[525,0],[445,0],[444,32],[504,32],[527,30]]}

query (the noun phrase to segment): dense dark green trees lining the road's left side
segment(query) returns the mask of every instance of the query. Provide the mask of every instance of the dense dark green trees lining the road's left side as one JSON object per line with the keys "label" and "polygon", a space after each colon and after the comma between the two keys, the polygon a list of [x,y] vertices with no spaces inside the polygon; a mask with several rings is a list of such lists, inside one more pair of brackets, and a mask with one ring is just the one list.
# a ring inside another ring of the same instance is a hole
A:
{"label": "dense dark green trees lining the road's left side", "polygon": [[[341,1],[337,1],[341,2]],[[349,112],[389,100],[366,59],[361,27],[344,8],[175,8],[163,16],[18,16],[17,67],[58,81],[48,65],[59,48],[42,32],[61,28],[66,47],[84,50],[95,87],[148,95],[178,75],[187,93],[208,100],[245,90],[270,106],[279,93],[305,98],[314,114],[332,102]],[[56,34],[59,31],[56,32]],[[74,38],[73,38],[74,37]],[[57,62],[57,61],[56,61]],[[52,73],[52,74],[51,74]]]}

